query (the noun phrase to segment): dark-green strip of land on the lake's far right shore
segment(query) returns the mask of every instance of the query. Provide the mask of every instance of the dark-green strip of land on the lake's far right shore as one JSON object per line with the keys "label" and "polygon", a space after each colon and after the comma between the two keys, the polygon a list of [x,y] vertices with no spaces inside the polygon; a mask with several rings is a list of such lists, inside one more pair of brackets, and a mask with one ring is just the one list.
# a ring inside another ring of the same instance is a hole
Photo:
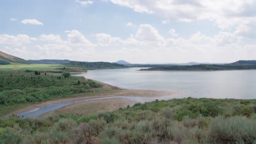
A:
{"label": "dark-green strip of land on the lake's far right shore", "polygon": [[[239,61],[238,61],[239,62]],[[231,64],[196,64],[196,65],[166,65],[141,70],[245,70],[256,69],[255,62],[247,61]]]}

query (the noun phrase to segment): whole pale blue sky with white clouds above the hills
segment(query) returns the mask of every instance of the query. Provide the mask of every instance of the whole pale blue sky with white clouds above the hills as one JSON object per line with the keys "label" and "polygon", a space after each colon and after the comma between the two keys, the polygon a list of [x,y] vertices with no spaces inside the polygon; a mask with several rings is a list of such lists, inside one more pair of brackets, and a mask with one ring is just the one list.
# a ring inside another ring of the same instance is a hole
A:
{"label": "whole pale blue sky with white clouds above the hills", "polygon": [[0,51],[24,59],[256,59],[256,0],[0,1]]}

